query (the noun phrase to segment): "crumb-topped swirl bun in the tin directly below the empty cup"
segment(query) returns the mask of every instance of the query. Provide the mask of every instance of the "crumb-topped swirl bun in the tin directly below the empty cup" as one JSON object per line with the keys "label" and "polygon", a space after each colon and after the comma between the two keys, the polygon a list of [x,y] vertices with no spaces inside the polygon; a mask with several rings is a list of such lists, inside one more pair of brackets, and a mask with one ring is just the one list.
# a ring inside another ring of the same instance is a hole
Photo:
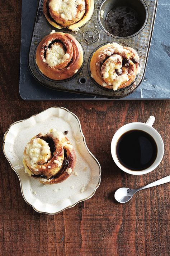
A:
{"label": "crumb-topped swirl bun in the tin directly below the empty cup", "polygon": [[91,77],[101,86],[114,91],[127,87],[140,72],[136,51],[111,43],[99,48],[90,62]]}

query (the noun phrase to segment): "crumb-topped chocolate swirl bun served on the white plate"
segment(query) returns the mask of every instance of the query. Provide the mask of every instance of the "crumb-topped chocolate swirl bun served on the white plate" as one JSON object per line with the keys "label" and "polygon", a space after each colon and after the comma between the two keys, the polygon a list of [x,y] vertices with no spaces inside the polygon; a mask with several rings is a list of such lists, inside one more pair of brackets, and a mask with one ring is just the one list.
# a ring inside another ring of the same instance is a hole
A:
{"label": "crumb-topped chocolate swirl bun served on the white plate", "polygon": [[75,161],[71,143],[56,129],[34,136],[23,153],[25,172],[43,184],[56,184],[67,179],[74,170]]}

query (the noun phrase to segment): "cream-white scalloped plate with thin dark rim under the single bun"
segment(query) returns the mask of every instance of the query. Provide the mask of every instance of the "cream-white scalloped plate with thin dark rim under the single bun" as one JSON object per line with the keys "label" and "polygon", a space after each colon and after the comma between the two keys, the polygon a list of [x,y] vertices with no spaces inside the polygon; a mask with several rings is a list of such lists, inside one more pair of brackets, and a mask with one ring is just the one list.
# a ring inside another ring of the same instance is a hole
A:
{"label": "cream-white scalloped plate with thin dark rim under the single bun", "polygon": [[[62,183],[43,186],[24,172],[23,151],[34,135],[52,128],[69,131],[67,138],[76,152],[76,166],[74,173]],[[86,145],[79,119],[66,108],[48,108],[13,123],[4,135],[3,151],[18,175],[23,198],[37,212],[57,214],[92,197],[100,185],[100,164]]]}

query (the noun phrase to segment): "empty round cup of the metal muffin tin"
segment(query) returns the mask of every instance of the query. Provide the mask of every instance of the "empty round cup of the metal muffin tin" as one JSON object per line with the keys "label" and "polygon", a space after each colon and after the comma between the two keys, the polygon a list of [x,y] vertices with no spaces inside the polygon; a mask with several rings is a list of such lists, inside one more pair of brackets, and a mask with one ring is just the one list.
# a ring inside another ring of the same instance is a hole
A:
{"label": "empty round cup of the metal muffin tin", "polygon": [[116,38],[136,36],[145,27],[147,18],[143,0],[103,0],[98,9],[100,27]]}

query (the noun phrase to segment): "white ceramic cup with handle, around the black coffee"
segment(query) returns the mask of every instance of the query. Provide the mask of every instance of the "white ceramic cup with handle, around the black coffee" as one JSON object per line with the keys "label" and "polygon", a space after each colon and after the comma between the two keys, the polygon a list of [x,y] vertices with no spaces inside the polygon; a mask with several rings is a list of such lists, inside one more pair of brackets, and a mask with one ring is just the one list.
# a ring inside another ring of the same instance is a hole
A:
{"label": "white ceramic cup with handle, around the black coffee", "polygon": [[[127,125],[123,125],[114,134],[112,143],[111,143],[111,153],[112,153],[114,162],[122,171],[125,171],[128,174],[132,174],[132,175],[141,175],[141,174],[146,174],[150,171],[153,171],[160,164],[162,157],[164,156],[164,143],[161,138],[161,135],[152,127],[154,121],[155,121],[155,117],[150,116],[146,123],[141,123],[141,122],[128,123]],[[145,131],[146,133],[150,134],[152,136],[152,138],[154,138],[154,140],[157,144],[157,157],[156,157],[154,163],[152,163],[152,165],[145,170],[142,170],[142,171],[130,170],[130,169],[126,168],[125,166],[123,166],[118,160],[118,157],[116,154],[116,144],[117,144],[119,138],[124,133],[126,133],[127,131],[130,131],[130,130]]]}

